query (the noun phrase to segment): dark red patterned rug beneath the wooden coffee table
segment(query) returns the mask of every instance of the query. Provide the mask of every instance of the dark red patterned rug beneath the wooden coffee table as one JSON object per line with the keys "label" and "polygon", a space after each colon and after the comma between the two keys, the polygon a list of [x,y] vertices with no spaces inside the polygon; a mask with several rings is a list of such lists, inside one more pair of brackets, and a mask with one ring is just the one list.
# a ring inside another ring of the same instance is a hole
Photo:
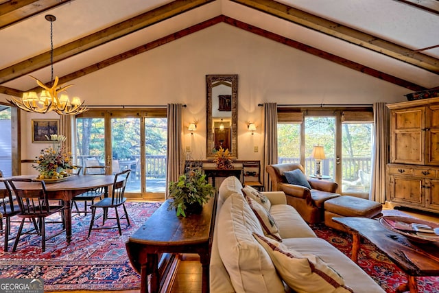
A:
{"label": "dark red patterned rug beneath the wooden coffee table", "polygon": [[[401,211],[385,211],[385,215],[404,215]],[[324,224],[312,225],[313,231],[317,236],[327,240],[342,253],[351,257],[352,237],[348,233],[328,228]],[[403,271],[381,253],[375,246],[367,240],[361,242],[358,255],[359,266],[374,279],[387,293],[395,292],[396,287],[401,283],[407,282],[407,277]],[[439,277],[418,277],[418,290],[423,293],[439,292]]]}

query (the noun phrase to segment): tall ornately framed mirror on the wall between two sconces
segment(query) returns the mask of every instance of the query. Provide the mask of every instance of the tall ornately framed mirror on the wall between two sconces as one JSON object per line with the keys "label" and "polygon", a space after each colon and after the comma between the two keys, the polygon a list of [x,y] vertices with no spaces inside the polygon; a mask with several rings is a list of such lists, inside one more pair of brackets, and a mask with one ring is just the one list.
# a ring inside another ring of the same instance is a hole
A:
{"label": "tall ornately framed mirror on the wall between two sconces", "polygon": [[220,147],[238,156],[238,75],[206,75],[206,158]]}

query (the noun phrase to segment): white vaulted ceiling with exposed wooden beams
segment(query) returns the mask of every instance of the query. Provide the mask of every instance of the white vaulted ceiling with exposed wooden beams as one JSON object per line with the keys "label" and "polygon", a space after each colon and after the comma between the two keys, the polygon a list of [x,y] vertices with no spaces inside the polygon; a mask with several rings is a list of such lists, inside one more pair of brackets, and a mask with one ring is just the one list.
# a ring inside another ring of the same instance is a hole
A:
{"label": "white vaulted ceiling with exposed wooden beams", "polygon": [[227,23],[411,91],[439,86],[438,0],[0,0],[0,93],[50,81],[46,14],[61,83]]}

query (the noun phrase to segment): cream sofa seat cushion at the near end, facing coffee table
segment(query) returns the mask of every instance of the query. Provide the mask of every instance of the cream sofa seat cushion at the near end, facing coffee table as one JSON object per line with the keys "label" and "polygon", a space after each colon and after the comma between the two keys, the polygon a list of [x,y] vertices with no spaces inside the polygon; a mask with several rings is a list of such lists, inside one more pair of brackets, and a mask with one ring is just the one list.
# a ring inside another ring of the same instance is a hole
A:
{"label": "cream sofa seat cushion at the near end, facing coffee table", "polygon": [[302,255],[313,254],[320,257],[342,275],[344,283],[355,293],[385,293],[364,270],[324,239],[284,238],[282,244],[302,253]]}

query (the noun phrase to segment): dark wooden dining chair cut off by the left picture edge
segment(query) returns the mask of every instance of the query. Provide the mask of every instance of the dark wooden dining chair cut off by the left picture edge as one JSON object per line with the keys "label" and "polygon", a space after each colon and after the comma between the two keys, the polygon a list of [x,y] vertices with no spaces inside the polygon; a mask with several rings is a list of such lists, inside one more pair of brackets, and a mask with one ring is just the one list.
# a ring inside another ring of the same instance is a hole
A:
{"label": "dark wooden dining chair cut off by the left picture edge", "polygon": [[[0,170],[0,177],[3,177],[3,172]],[[0,185],[5,185],[5,189],[0,189],[0,231],[4,234],[3,251],[8,252],[9,237],[11,233],[11,218],[19,213],[20,207],[14,197],[12,191],[6,181],[0,182]],[[5,218],[5,228],[3,230],[3,218]],[[13,238],[12,238],[13,239]]]}

